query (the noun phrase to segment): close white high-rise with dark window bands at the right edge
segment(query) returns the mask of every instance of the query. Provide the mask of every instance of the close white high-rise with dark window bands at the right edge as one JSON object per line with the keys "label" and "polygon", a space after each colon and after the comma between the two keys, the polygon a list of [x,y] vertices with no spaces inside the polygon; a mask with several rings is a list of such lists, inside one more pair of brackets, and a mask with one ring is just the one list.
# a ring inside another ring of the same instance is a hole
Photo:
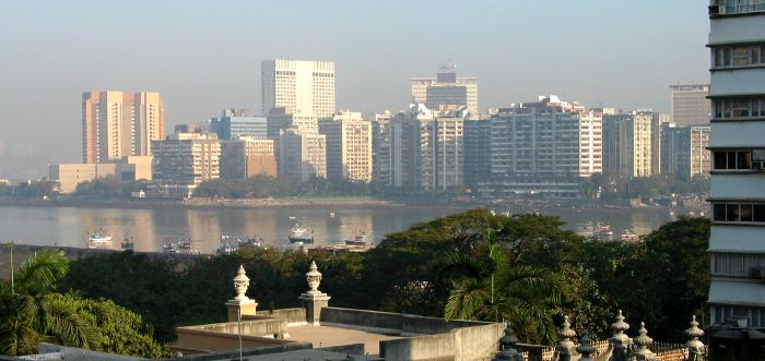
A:
{"label": "close white high-rise with dark window bands at the right edge", "polygon": [[[765,3],[714,0],[711,323],[765,327]],[[743,226],[743,227],[742,227]]]}

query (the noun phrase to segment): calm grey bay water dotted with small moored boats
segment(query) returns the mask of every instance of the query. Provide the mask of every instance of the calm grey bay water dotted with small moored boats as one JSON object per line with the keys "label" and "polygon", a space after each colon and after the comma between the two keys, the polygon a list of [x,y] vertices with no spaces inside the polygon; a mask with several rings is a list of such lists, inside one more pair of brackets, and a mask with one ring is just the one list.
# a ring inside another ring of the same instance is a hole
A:
{"label": "calm grey bay water dotted with small moored boats", "polygon": [[[420,221],[456,213],[464,207],[336,207],[330,217],[327,206],[271,207],[259,209],[117,209],[80,207],[0,206],[0,242],[86,248],[87,233],[103,229],[114,237],[111,248],[119,249],[125,233],[132,237],[137,251],[161,251],[169,237],[190,237],[193,248],[213,253],[221,236],[262,237],[275,246],[289,246],[286,236],[298,222],[313,230],[316,244],[342,243],[356,231],[369,234],[376,243],[386,233],[407,229]],[[566,226],[581,234],[590,233],[596,222],[610,224],[614,237],[624,229],[645,234],[671,219],[669,210],[631,209],[551,209],[543,214],[560,216]]]}

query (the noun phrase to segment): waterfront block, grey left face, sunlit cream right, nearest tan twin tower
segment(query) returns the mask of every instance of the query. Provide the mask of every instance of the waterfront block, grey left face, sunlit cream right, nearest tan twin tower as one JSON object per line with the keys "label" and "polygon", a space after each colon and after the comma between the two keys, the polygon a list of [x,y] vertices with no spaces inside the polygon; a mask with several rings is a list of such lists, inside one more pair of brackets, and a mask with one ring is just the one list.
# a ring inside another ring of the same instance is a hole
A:
{"label": "waterfront block, grey left face, sunlit cream right, nearest tan twin tower", "polygon": [[221,142],[214,134],[175,133],[152,141],[154,182],[188,196],[200,183],[220,178]]}

